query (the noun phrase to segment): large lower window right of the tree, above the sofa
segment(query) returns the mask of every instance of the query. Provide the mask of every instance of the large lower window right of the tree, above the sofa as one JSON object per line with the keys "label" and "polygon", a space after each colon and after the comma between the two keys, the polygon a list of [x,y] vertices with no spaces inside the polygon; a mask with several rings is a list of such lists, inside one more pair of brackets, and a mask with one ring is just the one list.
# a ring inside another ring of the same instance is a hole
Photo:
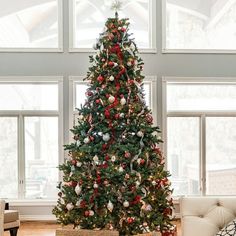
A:
{"label": "large lower window right of the tree, above the sofa", "polygon": [[236,194],[236,79],[165,78],[164,126],[174,194]]}

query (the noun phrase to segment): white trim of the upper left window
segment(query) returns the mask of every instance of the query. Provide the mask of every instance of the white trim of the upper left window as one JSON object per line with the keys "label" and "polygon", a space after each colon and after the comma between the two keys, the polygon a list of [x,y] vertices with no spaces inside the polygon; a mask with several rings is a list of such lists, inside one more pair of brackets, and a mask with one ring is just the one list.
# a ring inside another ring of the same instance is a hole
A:
{"label": "white trim of the upper left window", "polygon": [[58,2],[58,47],[56,48],[21,48],[0,47],[0,52],[63,52],[63,0]]}

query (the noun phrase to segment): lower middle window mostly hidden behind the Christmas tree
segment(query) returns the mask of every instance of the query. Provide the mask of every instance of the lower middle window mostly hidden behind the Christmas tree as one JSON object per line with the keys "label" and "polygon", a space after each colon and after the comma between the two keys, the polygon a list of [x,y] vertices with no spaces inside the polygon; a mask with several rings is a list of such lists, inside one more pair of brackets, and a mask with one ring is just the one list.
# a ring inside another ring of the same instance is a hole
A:
{"label": "lower middle window mostly hidden behind the Christmas tree", "polygon": [[[80,108],[86,100],[85,92],[88,88],[87,82],[83,81],[84,77],[71,76],[70,77],[70,124],[72,127],[76,124],[78,118],[78,111],[76,108]],[[147,76],[144,80],[144,93],[146,104],[152,110],[154,124],[156,124],[156,109],[153,105],[156,98],[156,77]]]}

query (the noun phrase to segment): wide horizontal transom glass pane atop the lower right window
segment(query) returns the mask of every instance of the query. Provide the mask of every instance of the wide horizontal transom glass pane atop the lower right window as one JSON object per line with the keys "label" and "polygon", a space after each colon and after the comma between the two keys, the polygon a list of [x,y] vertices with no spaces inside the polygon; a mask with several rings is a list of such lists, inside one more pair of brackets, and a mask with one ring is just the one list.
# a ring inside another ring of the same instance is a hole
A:
{"label": "wide horizontal transom glass pane atop the lower right window", "polygon": [[236,85],[168,84],[167,110],[236,110]]}

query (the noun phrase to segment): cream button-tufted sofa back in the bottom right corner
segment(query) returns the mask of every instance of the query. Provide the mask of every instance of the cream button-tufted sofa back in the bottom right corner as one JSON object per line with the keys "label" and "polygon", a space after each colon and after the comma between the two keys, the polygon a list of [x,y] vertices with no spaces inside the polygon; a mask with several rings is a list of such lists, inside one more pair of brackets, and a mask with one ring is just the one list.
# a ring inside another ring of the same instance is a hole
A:
{"label": "cream button-tufted sofa back in the bottom right corner", "polygon": [[182,236],[215,236],[236,218],[236,196],[183,197],[180,211]]}

